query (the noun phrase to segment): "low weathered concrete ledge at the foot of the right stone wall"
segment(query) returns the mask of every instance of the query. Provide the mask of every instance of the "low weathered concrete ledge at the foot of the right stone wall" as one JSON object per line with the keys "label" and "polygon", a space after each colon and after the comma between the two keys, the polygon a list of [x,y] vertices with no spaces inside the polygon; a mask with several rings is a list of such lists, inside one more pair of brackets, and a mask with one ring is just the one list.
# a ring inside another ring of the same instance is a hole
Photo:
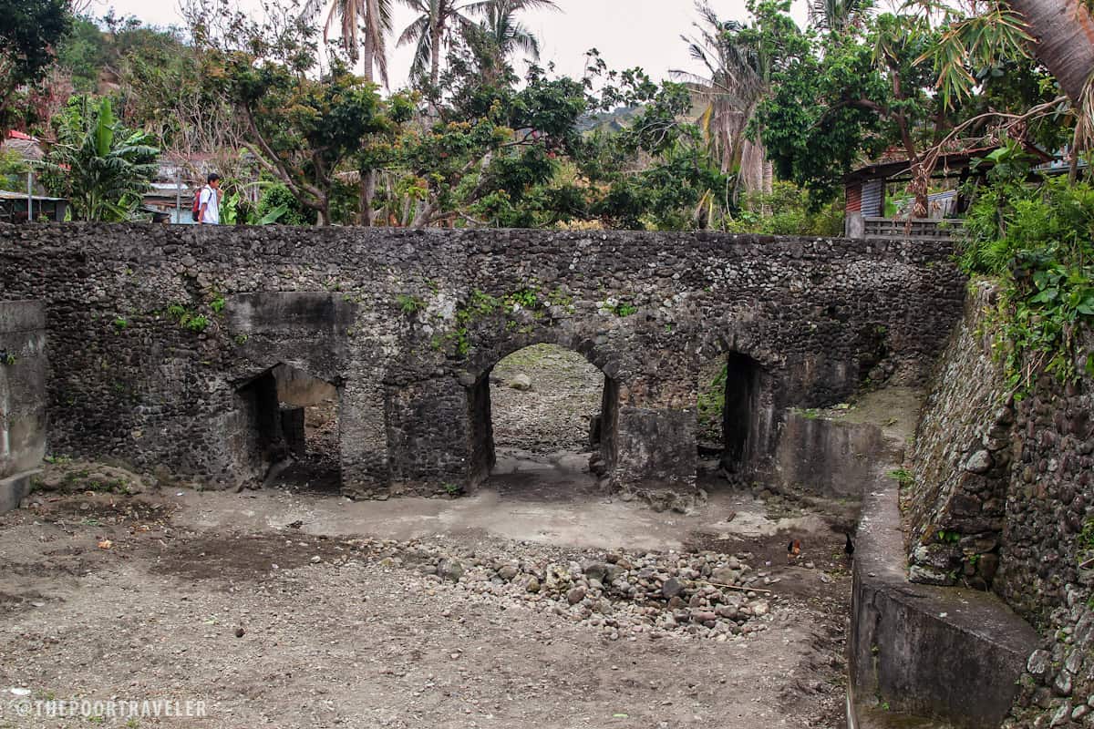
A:
{"label": "low weathered concrete ledge at the foot of the right stone wall", "polygon": [[996,729],[1017,694],[1037,634],[993,595],[908,581],[898,485],[886,477],[888,468],[877,466],[858,531],[848,647],[852,702]]}

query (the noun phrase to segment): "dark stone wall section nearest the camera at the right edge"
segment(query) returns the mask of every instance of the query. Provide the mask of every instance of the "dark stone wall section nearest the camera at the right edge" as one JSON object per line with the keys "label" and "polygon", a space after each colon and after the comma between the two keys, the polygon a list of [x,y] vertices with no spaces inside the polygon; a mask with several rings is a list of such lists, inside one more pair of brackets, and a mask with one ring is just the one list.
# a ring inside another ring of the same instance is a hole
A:
{"label": "dark stone wall section nearest the camera at the right edge", "polygon": [[[1094,332],[1081,332],[1089,373]],[[994,589],[1040,632],[1016,727],[1094,726],[1094,377],[1043,376],[1016,403],[1014,463]]]}

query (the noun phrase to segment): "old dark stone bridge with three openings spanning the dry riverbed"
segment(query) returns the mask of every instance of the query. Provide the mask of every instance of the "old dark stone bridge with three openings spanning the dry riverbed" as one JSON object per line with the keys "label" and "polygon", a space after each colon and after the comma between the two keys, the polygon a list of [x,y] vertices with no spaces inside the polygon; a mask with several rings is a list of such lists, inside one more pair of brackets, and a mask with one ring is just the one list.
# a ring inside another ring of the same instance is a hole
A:
{"label": "old dark stone bridge with three openings spanning the dry riverbed", "polygon": [[279,364],[337,388],[344,492],[472,487],[491,368],[529,344],[605,375],[618,489],[696,480],[703,362],[725,466],[769,468],[788,408],[915,384],[962,314],[951,245],[713,234],[0,226],[0,301],[45,303],[49,449],[210,486],[260,481]]}

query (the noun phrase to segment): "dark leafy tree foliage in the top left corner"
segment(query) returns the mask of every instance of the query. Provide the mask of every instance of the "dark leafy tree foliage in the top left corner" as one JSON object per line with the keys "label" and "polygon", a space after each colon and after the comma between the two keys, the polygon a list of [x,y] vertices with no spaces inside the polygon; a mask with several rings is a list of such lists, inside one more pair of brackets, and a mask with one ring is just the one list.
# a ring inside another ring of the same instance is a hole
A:
{"label": "dark leafy tree foliage in the top left corner", "polygon": [[37,82],[71,27],[65,0],[0,0],[0,139],[15,119],[18,92]]}

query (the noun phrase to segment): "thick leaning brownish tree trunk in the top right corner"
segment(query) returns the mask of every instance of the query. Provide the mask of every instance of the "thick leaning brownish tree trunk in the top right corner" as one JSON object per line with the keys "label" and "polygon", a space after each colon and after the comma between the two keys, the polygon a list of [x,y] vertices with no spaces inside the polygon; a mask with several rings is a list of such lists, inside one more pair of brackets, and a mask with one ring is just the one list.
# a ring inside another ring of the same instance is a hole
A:
{"label": "thick leaning brownish tree trunk in the top right corner", "polygon": [[1094,71],[1094,19],[1082,0],[1010,0],[1037,39],[1034,54],[1072,102]]}

